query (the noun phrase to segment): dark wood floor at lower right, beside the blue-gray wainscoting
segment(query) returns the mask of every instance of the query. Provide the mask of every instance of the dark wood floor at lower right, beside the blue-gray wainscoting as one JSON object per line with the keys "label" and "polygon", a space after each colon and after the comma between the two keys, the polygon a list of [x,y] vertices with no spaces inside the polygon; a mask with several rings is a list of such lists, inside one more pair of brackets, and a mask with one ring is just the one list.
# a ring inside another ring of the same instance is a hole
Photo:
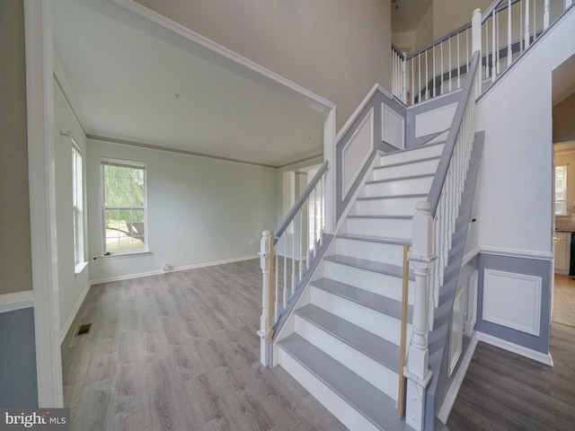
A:
{"label": "dark wood floor at lower right, beside the blue-gray wainscoting", "polygon": [[449,430],[575,430],[575,328],[553,323],[550,350],[554,367],[480,342]]}

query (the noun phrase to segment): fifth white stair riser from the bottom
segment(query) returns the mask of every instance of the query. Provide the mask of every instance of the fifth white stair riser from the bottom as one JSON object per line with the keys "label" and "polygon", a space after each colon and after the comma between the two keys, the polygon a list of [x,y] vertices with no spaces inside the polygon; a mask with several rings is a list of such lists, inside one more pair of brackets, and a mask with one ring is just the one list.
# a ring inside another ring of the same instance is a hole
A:
{"label": "fifth white stair riser from the bottom", "polygon": [[370,242],[336,239],[337,254],[350,258],[366,259],[375,262],[403,265],[403,245],[385,242]]}

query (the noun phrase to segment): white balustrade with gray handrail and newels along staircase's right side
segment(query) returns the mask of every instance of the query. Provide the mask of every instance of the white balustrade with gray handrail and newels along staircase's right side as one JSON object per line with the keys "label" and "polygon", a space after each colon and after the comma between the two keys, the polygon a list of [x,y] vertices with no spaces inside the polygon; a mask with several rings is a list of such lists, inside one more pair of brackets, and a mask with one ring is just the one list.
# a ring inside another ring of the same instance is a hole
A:
{"label": "white balustrade with gray handrail and newels along staircase's right side", "polygon": [[412,336],[405,366],[407,377],[406,422],[415,430],[425,424],[426,388],[429,370],[428,332],[438,304],[439,286],[455,232],[456,218],[473,146],[475,100],[481,94],[481,13],[473,13],[472,40],[475,48],[447,142],[438,163],[427,201],[418,203],[412,218],[409,260],[415,275]]}

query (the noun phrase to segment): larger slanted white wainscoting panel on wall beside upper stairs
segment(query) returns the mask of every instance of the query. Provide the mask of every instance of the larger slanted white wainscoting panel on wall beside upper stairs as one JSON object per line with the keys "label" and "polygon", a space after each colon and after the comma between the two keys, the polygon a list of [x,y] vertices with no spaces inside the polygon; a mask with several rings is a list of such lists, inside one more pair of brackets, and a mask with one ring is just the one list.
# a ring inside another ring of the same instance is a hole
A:
{"label": "larger slanted white wainscoting panel on wall beside upper stairs", "polygon": [[358,178],[361,167],[367,162],[374,147],[374,109],[358,126],[349,142],[343,148],[343,196],[347,196],[353,181]]}

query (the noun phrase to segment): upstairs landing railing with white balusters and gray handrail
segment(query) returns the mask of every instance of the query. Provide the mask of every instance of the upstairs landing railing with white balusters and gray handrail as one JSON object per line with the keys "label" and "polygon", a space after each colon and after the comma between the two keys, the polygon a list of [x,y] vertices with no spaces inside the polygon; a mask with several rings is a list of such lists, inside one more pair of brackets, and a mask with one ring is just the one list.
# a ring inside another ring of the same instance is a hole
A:
{"label": "upstairs landing railing with white balusters and gray handrail", "polygon": [[[482,78],[494,82],[572,3],[495,0],[482,14]],[[408,56],[392,46],[394,96],[413,105],[458,90],[472,53],[471,22]]]}

